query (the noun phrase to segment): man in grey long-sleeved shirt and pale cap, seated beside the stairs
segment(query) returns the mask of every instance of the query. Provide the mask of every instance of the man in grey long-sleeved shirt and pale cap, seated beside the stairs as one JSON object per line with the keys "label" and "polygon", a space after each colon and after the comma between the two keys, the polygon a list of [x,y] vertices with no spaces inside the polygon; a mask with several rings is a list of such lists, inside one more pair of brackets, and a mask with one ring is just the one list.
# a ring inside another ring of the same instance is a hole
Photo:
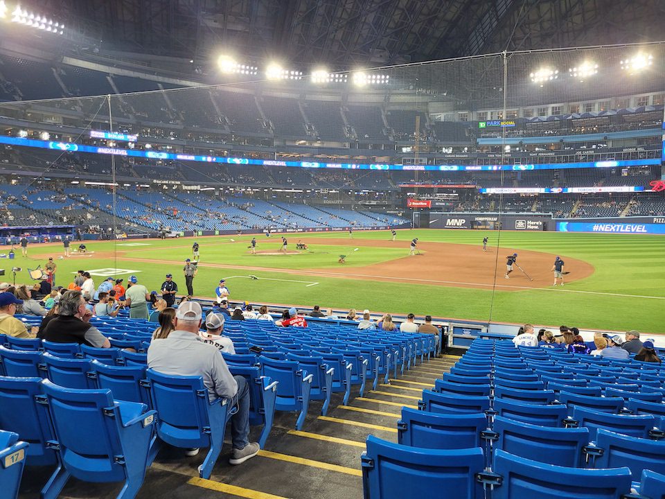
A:
{"label": "man in grey long-sleeved shirt and pale cap, seated beside the stairs", "polygon": [[[168,338],[150,343],[148,367],[163,374],[202,376],[212,400],[229,399],[229,411],[238,405],[231,416],[233,453],[230,464],[241,464],[258,454],[256,442],[249,442],[249,386],[243,376],[232,376],[217,347],[199,337],[202,310],[196,301],[186,301],[175,313],[175,331]],[[195,455],[192,449],[188,455]]]}

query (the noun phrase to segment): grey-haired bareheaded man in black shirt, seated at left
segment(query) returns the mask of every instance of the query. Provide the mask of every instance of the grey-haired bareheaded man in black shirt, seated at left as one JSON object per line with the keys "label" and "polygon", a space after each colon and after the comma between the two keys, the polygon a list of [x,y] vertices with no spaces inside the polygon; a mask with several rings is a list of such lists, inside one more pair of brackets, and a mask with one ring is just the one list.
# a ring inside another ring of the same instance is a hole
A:
{"label": "grey-haired bareheaded man in black shirt, seated at left", "polygon": [[79,343],[89,347],[109,348],[111,343],[100,331],[89,324],[92,312],[85,306],[80,291],[69,290],[57,304],[57,317],[44,328],[44,340],[56,343]]}

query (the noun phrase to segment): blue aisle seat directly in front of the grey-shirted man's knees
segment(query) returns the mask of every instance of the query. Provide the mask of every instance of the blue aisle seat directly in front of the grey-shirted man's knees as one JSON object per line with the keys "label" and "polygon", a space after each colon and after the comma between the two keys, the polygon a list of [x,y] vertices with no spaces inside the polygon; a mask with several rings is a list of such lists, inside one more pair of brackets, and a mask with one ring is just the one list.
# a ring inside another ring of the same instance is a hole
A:
{"label": "blue aisle seat directly in front of the grey-shirted man's knees", "polygon": [[249,386],[249,424],[263,426],[258,444],[265,447],[275,417],[277,381],[261,376],[257,366],[229,365],[233,376],[244,376]]}

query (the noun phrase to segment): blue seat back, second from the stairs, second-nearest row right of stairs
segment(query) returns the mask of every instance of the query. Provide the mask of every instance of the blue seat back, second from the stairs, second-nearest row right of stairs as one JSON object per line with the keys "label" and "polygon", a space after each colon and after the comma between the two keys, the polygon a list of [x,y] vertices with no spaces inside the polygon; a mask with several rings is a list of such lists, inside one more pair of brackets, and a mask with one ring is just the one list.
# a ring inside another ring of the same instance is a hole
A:
{"label": "blue seat back, second from the stairs, second-nearest row right of stairs", "polygon": [[497,437],[494,448],[559,466],[576,468],[584,464],[583,448],[589,443],[587,428],[549,428],[496,416],[492,430]]}

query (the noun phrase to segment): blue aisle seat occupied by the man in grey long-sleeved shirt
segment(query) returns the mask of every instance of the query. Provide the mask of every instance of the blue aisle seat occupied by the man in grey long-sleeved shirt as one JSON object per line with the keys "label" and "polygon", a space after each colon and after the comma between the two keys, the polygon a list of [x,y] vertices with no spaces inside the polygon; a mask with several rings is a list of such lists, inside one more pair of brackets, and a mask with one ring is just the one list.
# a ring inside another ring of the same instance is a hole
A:
{"label": "blue aisle seat occupied by the man in grey long-sleeved shirt", "polygon": [[200,376],[174,376],[154,369],[145,371],[150,381],[152,407],[157,410],[157,435],[181,448],[206,447],[199,477],[210,478],[224,444],[229,410],[226,399],[210,401]]}

